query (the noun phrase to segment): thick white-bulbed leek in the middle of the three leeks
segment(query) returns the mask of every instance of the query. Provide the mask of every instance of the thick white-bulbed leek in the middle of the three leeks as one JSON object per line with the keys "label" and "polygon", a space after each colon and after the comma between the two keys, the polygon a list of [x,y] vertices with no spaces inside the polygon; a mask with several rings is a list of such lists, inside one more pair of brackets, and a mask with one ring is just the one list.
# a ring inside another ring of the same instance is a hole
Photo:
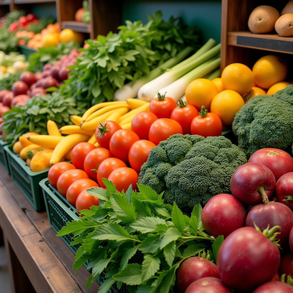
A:
{"label": "thick white-bulbed leek in the middle of the three leeks", "polygon": [[157,78],[144,84],[138,91],[138,98],[150,101],[154,94],[162,87],[168,86],[176,79],[186,74],[191,69],[219,53],[219,45],[215,46],[216,41],[209,39],[195,54],[172,67]]}

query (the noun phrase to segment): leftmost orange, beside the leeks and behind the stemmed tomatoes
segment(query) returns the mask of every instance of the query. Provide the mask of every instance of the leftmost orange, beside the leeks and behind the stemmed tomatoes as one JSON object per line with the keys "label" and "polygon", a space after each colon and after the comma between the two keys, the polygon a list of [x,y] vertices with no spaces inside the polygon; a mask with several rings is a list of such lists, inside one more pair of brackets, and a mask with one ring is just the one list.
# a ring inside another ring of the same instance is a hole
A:
{"label": "leftmost orange, beside the leeks and behind the stemmed tomatoes", "polygon": [[185,90],[187,103],[200,109],[202,105],[209,109],[212,99],[218,93],[216,85],[209,79],[198,78],[188,84]]}

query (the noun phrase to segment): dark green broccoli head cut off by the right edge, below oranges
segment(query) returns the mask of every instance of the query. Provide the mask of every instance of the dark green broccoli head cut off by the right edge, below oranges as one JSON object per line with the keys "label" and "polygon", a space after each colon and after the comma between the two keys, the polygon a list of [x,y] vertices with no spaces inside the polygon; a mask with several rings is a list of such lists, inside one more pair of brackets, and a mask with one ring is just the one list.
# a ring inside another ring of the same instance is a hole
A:
{"label": "dark green broccoli head cut off by the right edge, below oranges", "polygon": [[271,96],[256,96],[235,115],[232,129],[238,146],[250,157],[272,147],[287,150],[293,143],[293,85]]}

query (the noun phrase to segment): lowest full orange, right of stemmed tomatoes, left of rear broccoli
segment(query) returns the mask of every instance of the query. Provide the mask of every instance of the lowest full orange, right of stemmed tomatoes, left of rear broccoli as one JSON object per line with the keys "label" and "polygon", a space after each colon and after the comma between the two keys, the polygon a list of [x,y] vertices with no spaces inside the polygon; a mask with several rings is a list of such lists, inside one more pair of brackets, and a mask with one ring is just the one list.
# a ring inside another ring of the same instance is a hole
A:
{"label": "lowest full orange, right of stemmed tomatoes, left of rear broccoli", "polygon": [[224,90],[212,100],[211,112],[217,114],[223,124],[231,125],[236,112],[244,105],[243,98],[236,91]]}

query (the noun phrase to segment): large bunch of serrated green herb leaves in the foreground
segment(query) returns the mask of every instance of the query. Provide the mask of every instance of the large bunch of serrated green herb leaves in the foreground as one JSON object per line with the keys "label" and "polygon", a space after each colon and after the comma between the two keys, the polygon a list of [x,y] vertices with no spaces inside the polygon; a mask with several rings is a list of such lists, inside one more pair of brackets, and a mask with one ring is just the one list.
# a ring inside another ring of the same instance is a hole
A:
{"label": "large bunch of serrated green herb leaves in the foreground", "polygon": [[81,245],[73,268],[79,270],[89,260],[92,275],[89,287],[106,271],[99,293],[106,293],[116,282],[129,292],[174,292],[176,270],[183,260],[209,249],[214,262],[224,237],[214,239],[204,232],[202,207],[196,205],[190,216],[176,203],[164,204],[163,194],[145,185],[138,192],[131,186],[118,192],[103,178],[106,190],[91,188],[89,194],[100,205],[82,210],[79,220],[67,223],[57,236],[74,234],[71,245]]}

